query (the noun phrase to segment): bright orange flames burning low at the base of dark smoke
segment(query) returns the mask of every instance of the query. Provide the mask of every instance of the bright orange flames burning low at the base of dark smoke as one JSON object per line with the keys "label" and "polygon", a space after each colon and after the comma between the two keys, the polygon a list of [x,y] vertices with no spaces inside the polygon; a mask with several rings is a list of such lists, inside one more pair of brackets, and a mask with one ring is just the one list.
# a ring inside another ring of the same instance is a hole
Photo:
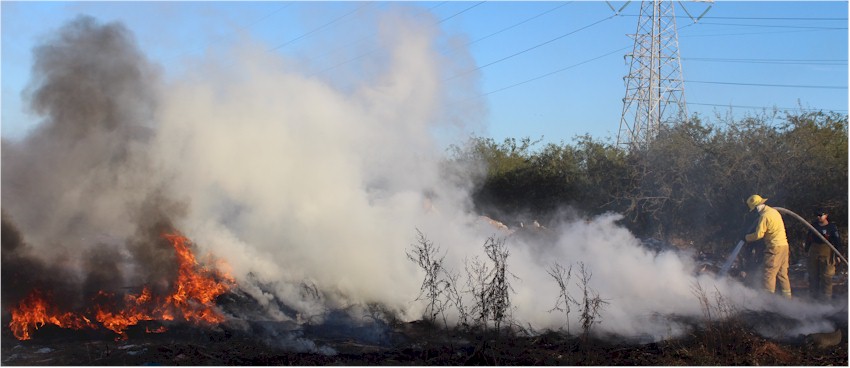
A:
{"label": "bright orange flames burning low at the base of dark smoke", "polygon": [[[124,331],[129,326],[141,321],[171,321],[175,317],[193,323],[217,324],[224,321],[224,316],[215,309],[215,299],[230,289],[233,278],[199,266],[186,237],[179,234],[163,234],[163,237],[171,242],[177,255],[178,276],[173,291],[165,297],[155,297],[146,286],[139,295],[126,295],[123,309],[112,311],[101,304],[94,306],[95,320],[121,335],[122,339],[127,338]],[[113,294],[100,291],[98,297],[111,298]],[[47,323],[62,328],[97,328],[85,316],[71,312],[59,313],[37,291],[12,311],[9,327],[19,340],[29,340],[35,329]],[[149,333],[161,333],[165,327],[146,330]]]}

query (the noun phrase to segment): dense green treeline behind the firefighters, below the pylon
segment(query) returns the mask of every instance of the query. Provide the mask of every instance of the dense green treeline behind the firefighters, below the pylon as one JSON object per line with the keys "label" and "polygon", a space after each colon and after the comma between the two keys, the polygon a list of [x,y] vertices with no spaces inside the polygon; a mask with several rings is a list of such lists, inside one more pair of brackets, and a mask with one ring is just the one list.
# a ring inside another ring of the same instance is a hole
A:
{"label": "dense green treeline behind the firefighters, below the pylon", "polygon": [[[648,148],[631,151],[589,135],[546,145],[472,137],[451,148],[451,160],[486,164],[474,205],[509,224],[532,216],[545,225],[563,208],[613,211],[638,236],[710,251],[739,239],[752,222],[744,200],[760,194],[806,219],[825,208],[847,234],[847,115],[719,120],[670,124]],[[785,221],[795,248],[805,227]]]}

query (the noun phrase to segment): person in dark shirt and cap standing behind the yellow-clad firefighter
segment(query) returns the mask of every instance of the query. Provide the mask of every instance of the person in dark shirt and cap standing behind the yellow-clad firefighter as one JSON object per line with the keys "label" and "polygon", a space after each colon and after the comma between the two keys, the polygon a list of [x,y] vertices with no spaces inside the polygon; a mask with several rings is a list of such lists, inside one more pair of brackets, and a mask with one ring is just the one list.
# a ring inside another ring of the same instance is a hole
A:
{"label": "person in dark shirt and cap standing behind the yellow-clad firefighter", "polygon": [[[829,222],[828,216],[826,211],[817,210],[812,226],[827,241],[836,245],[841,240],[840,235],[835,224]],[[832,300],[832,277],[835,276],[838,256],[811,231],[806,237],[805,250],[808,253],[809,294],[814,299]]]}

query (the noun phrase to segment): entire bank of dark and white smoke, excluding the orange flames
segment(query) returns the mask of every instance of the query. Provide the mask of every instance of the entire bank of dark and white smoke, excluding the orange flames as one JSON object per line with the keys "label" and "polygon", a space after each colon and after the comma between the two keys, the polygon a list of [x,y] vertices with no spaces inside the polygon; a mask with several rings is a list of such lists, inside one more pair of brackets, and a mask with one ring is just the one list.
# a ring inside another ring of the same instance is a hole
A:
{"label": "entire bank of dark and white smoke, excluding the orange flames", "polygon": [[[26,91],[42,120],[2,147],[4,305],[14,303],[6,272],[26,262],[68,272],[75,285],[63,288],[80,293],[169,280],[174,260],[158,235],[176,229],[224,259],[241,301],[256,306],[227,309],[232,319],[300,325],[350,311],[367,321],[369,305],[420,318],[423,275],[405,255],[416,229],[457,272],[483,257],[488,236],[507,235],[471,212],[474,183],[461,175],[471,169],[447,166],[434,137],[484,119],[468,98],[475,74],[447,78],[469,70],[468,53],[440,53],[451,37],[431,17],[372,15],[373,69],[344,87],[250,39],[187,60],[188,72],[166,80],[121,24],[80,17],[47,37]],[[691,259],[645,250],[618,218],[565,220],[545,243],[509,237],[512,317],[565,325],[550,312],[553,262],[587,265],[589,286],[608,302],[600,331],[623,336],[683,332],[664,316],[702,317],[695,284],[800,321],[789,333],[822,332],[826,316],[846,309],[696,277]],[[10,244],[29,249],[8,263],[7,226],[20,230]]]}

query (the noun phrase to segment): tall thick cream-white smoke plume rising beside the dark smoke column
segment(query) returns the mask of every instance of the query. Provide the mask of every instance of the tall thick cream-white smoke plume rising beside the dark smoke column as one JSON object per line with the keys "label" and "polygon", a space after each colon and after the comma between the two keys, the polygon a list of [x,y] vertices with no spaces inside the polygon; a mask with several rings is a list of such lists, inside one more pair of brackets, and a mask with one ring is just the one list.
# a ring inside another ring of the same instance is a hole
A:
{"label": "tall thick cream-white smoke plume rising beside the dark smoke column", "polygon": [[[350,94],[249,43],[235,65],[205,62],[168,85],[153,152],[189,203],[180,228],[305,316],[350,302],[409,309],[418,276],[404,252],[425,226],[424,194],[466,204],[440,181],[446,70],[428,21],[387,18],[375,56],[386,68]],[[435,231],[474,218],[449,215]],[[352,300],[305,300],[302,283]]]}

